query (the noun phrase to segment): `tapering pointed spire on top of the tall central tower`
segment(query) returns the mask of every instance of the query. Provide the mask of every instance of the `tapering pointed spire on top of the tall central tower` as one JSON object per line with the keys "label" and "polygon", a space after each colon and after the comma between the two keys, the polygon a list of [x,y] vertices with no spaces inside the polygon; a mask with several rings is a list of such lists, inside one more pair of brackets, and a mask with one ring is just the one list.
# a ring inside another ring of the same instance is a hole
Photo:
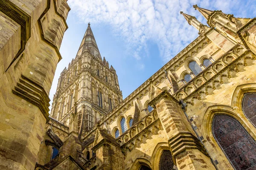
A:
{"label": "tapering pointed spire on top of the tall central tower", "polygon": [[93,31],[90,28],[90,23],[88,23],[88,27],[85,31],[83,40],[81,42],[81,45],[79,47],[78,55],[81,55],[83,50],[88,50],[90,51],[93,56],[98,56],[101,58],[100,53],[99,53],[99,48],[97,46],[96,40],[93,35]]}

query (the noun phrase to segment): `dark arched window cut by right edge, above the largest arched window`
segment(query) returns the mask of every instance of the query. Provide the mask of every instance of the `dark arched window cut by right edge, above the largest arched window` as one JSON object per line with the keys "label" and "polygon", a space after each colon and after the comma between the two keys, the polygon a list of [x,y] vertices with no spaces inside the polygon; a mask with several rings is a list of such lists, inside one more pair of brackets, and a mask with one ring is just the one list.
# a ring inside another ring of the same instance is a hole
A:
{"label": "dark arched window cut by right edge, above the largest arched window", "polygon": [[242,108],[247,119],[256,127],[256,93],[244,95]]}

